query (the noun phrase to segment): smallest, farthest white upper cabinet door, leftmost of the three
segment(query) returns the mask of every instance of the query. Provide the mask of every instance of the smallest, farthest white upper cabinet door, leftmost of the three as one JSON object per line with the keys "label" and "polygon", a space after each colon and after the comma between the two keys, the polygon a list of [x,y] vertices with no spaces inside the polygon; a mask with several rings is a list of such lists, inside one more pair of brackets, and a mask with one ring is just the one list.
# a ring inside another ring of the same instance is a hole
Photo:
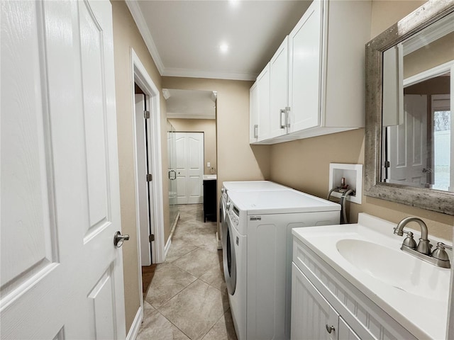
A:
{"label": "smallest, farthest white upper cabinet door, leftmost of the three", "polygon": [[267,140],[271,135],[270,126],[270,63],[257,77],[258,140]]}

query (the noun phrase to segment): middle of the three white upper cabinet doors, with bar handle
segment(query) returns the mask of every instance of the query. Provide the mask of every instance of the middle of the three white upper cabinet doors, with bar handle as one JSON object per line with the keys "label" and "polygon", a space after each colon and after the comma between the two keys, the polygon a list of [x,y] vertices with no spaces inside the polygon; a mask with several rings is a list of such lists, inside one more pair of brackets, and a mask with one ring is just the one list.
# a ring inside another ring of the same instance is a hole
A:
{"label": "middle of the three white upper cabinet doors, with bar handle", "polygon": [[289,101],[289,37],[285,37],[270,62],[271,137],[285,135]]}

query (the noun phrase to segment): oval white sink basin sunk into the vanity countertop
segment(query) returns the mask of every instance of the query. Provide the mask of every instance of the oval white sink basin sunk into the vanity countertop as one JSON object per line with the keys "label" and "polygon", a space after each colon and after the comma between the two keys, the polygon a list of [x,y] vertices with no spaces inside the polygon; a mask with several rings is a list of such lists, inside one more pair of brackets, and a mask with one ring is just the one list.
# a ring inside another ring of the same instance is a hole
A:
{"label": "oval white sink basin sunk into the vanity countertop", "polygon": [[336,248],[353,266],[382,283],[428,299],[446,299],[450,271],[440,271],[400,249],[362,239],[341,239]]}

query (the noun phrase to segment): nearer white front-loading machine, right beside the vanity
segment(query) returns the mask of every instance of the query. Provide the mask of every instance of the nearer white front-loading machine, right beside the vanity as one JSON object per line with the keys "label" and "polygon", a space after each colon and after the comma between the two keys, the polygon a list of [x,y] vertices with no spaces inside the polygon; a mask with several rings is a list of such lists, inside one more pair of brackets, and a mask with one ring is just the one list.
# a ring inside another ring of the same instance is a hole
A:
{"label": "nearer white front-loading machine, right beside the vanity", "polygon": [[229,191],[224,276],[239,340],[290,339],[292,232],[338,225],[341,205],[290,188]]}

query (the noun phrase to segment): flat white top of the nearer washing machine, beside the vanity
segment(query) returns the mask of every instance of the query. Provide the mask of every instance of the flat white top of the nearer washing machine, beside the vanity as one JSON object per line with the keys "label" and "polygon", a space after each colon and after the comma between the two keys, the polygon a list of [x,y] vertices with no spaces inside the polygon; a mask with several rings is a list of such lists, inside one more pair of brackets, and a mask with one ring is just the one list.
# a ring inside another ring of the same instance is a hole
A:
{"label": "flat white top of the nearer washing machine, beside the vanity", "polygon": [[230,191],[232,203],[248,215],[289,212],[339,211],[341,205],[293,189],[279,191]]}

